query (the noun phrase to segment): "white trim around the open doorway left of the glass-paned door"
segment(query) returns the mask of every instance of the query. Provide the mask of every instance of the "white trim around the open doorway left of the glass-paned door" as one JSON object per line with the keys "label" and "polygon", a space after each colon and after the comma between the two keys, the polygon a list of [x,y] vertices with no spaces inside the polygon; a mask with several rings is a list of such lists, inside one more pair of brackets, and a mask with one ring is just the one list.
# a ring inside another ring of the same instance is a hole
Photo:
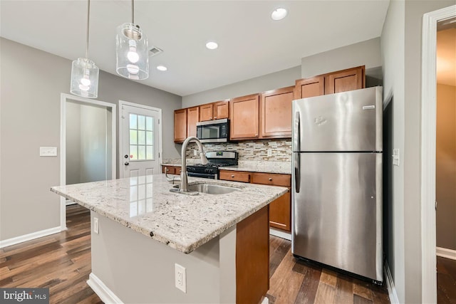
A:
{"label": "white trim around the open doorway left of the glass-paned door", "polygon": [[[116,152],[116,122],[115,122],[115,110],[116,105],[114,103],[105,103],[104,101],[81,98],[75,95],[61,93],[60,101],[60,184],[61,186],[66,185],[66,103],[68,100],[76,100],[79,103],[85,103],[88,105],[100,105],[106,108],[111,108],[111,159],[112,159],[112,169],[111,169],[111,178],[115,179],[115,172],[117,170],[115,162]],[[61,231],[66,230],[66,199],[61,196],[60,198],[60,226]]]}

